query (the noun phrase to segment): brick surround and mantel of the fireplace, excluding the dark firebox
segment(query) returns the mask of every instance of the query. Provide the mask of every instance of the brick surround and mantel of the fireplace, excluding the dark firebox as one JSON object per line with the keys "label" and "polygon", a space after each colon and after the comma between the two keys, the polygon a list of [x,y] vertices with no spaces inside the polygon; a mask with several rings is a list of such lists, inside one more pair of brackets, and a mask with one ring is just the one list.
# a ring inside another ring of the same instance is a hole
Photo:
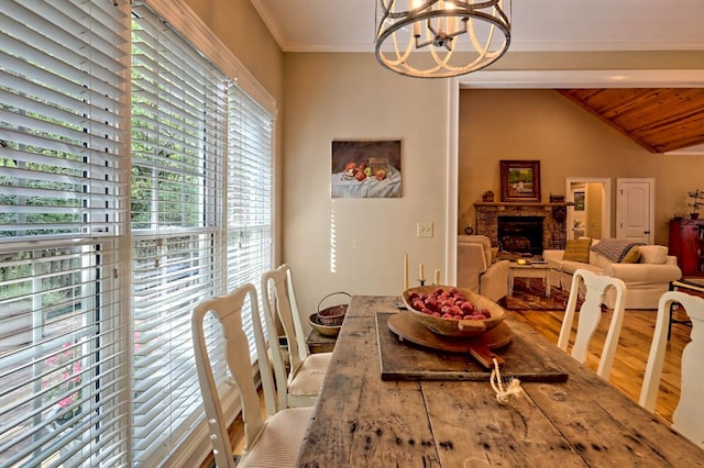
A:
{"label": "brick surround and mantel of the fireplace, excluding the dark firebox", "polygon": [[566,208],[573,202],[476,202],[475,233],[485,235],[498,247],[498,216],[544,216],[542,224],[542,247],[564,248],[566,244]]}

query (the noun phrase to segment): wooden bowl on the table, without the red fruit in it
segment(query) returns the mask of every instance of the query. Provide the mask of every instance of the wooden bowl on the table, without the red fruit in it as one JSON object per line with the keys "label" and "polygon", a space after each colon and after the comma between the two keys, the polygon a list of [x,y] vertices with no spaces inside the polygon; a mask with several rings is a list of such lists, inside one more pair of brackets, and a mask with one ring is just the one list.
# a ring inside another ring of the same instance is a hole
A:
{"label": "wooden bowl on the table, without the red fruit in it", "polygon": [[[435,291],[438,288],[443,290],[457,289],[466,300],[469,300],[476,309],[485,309],[490,312],[491,317],[485,320],[457,320],[457,319],[443,319],[440,316],[430,315],[428,313],[420,312],[413,308],[413,301],[410,294],[417,292],[418,294],[427,294]],[[410,288],[404,291],[403,294],[406,308],[413,315],[424,325],[426,325],[431,332],[452,337],[468,337],[477,336],[487,330],[492,330],[506,317],[506,311],[496,302],[470,291],[465,288],[455,288],[453,286],[421,286],[418,288]]]}

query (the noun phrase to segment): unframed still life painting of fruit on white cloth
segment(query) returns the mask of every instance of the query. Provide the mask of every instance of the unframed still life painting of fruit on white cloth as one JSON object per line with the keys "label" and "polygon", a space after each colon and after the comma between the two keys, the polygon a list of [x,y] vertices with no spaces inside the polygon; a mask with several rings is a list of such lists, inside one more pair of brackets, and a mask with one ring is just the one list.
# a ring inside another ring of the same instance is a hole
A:
{"label": "unframed still life painting of fruit on white cloth", "polygon": [[400,141],[332,142],[332,198],[399,198]]}

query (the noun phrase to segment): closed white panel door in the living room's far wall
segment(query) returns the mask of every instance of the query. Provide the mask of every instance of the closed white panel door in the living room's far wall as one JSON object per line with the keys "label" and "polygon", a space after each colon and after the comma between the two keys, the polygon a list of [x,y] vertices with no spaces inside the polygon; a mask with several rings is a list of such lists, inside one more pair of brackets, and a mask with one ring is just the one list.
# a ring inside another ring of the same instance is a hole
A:
{"label": "closed white panel door in the living room's far wall", "polygon": [[654,179],[616,179],[616,238],[653,243]]}

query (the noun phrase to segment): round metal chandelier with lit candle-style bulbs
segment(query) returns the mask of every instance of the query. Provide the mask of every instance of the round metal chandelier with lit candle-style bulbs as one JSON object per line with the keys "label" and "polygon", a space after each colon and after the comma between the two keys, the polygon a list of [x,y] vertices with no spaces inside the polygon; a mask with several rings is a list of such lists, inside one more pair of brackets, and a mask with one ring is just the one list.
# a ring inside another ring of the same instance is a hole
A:
{"label": "round metal chandelier with lit candle-style bulbs", "polygon": [[376,59],[402,75],[447,78],[496,62],[510,43],[510,0],[378,0]]}

